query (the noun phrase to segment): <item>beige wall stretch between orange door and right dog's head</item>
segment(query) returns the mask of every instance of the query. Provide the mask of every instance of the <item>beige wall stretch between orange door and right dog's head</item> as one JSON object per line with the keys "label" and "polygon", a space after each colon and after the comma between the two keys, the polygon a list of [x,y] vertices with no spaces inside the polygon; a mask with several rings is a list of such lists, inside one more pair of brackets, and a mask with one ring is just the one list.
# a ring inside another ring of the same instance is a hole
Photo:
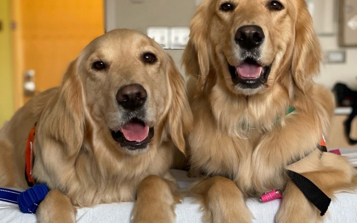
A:
{"label": "beige wall stretch between orange door and right dog's head", "polygon": [[[107,31],[129,28],[146,34],[148,26],[189,26],[195,5],[195,0],[142,0],[140,3],[132,0],[107,0]],[[167,51],[181,68],[183,50]]]}

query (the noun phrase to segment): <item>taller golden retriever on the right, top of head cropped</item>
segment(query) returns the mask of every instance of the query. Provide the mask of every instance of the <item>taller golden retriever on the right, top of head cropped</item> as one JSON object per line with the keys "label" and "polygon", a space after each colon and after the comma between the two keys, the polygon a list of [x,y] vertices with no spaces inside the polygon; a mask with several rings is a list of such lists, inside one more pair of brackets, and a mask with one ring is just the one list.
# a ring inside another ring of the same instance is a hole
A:
{"label": "taller golden retriever on the right, top of head cropped", "polygon": [[347,159],[322,153],[332,94],[314,84],[320,47],[304,0],[205,0],[183,54],[193,129],[193,186],[215,223],[250,222],[246,197],[284,189],[279,223],[320,222],[320,211],[288,177],[328,197],[357,185]]}

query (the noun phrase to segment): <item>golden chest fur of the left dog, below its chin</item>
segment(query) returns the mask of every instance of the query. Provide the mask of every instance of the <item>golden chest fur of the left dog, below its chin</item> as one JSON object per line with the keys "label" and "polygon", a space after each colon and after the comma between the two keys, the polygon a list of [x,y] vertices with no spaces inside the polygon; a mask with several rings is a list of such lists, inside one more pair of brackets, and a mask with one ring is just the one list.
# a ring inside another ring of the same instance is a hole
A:
{"label": "golden chest fur of the left dog, below its chin", "polygon": [[[109,157],[103,157],[105,161],[110,161],[110,164],[99,161],[97,162],[98,166],[96,166],[90,163],[90,160],[87,160],[84,166],[86,169],[83,169],[87,177],[83,179],[85,181],[80,180],[82,181],[81,185],[88,185],[89,183],[91,186],[87,186],[85,190],[81,189],[80,193],[72,190],[72,192],[75,192],[73,196],[69,196],[72,197],[73,204],[82,205],[81,202],[85,202],[83,206],[133,201],[138,186],[145,177],[153,174],[168,178],[168,169],[171,162],[168,162],[167,159],[172,157],[171,153],[171,148],[159,146],[158,148],[150,148],[144,154],[126,157],[120,162],[111,160]],[[81,171],[81,167],[76,168],[77,172]],[[93,182],[88,182],[89,179],[92,179]],[[93,196],[92,200],[88,198],[88,194]]]}

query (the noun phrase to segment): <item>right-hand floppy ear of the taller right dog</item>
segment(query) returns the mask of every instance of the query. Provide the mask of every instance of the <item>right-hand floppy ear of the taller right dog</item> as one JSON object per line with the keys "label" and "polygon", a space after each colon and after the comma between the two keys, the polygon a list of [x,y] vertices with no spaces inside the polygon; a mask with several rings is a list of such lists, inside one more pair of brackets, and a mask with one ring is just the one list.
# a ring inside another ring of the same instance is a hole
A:
{"label": "right-hand floppy ear of the taller right dog", "polygon": [[297,87],[304,92],[306,81],[319,72],[321,50],[306,2],[298,2],[292,74]]}

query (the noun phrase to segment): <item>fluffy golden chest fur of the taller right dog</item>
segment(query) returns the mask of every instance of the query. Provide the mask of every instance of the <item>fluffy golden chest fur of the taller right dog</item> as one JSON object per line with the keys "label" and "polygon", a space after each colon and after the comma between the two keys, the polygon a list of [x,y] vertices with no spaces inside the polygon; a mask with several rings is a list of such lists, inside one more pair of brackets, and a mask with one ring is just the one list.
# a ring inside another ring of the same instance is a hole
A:
{"label": "fluffy golden chest fur of the taller right dog", "polygon": [[286,183],[283,163],[277,157],[277,163],[271,164],[275,159],[274,152],[267,157],[261,154],[265,153],[262,147],[274,147],[262,145],[262,139],[276,128],[284,128],[288,100],[273,105],[275,110],[272,112],[269,107],[275,103],[274,99],[265,107],[260,104],[262,111],[258,111],[254,110],[254,102],[249,104],[241,100],[235,103],[220,99],[218,95],[211,94],[214,103],[198,99],[193,107],[194,116],[199,117],[194,119],[194,129],[189,137],[193,168],[208,175],[233,179],[247,195],[283,188]]}

